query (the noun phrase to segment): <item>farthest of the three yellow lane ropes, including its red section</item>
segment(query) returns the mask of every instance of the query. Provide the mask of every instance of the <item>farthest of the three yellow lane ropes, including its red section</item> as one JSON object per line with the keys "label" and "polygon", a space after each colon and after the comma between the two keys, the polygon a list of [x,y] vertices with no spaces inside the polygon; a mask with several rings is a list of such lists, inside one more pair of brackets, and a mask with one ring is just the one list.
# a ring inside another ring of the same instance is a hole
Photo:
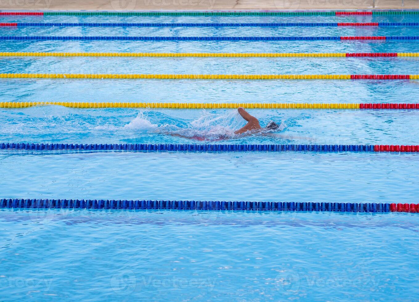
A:
{"label": "farthest of the three yellow lane ropes, including its red section", "polygon": [[0,52],[0,57],[419,57],[419,52]]}

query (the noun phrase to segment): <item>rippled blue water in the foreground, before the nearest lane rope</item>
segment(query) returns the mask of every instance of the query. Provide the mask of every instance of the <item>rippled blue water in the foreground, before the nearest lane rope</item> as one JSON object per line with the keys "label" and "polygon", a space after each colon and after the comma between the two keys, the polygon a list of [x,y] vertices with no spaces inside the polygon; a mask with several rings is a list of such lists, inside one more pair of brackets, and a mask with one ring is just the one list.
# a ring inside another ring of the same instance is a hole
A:
{"label": "rippled blue water in the foreground, before the nearest lane rope", "polygon": [[0,227],[5,300],[419,294],[415,214],[3,210]]}

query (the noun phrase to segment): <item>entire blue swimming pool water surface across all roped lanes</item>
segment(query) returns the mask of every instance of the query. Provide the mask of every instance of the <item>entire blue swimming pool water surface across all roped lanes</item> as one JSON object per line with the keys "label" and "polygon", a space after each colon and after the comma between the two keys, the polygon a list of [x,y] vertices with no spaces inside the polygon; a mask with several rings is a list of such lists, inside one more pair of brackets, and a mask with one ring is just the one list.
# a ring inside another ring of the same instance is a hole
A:
{"label": "entire blue swimming pool water surface across all roped lanes", "polygon": [[[1,22],[416,22],[417,15],[0,15]],[[0,36],[416,36],[419,26],[1,26]],[[1,52],[419,52],[419,40],[19,41]],[[419,57],[1,56],[0,73],[417,75]],[[419,80],[1,78],[1,102],[419,103]],[[417,109],[249,109],[217,144],[418,145]],[[236,109],[0,108],[0,143],[211,144]],[[169,134],[171,133],[171,134]],[[417,204],[417,152],[0,149],[0,198]],[[1,300],[411,300],[416,213],[0,208]],[[397,297],[397,298],[396,298]]]}

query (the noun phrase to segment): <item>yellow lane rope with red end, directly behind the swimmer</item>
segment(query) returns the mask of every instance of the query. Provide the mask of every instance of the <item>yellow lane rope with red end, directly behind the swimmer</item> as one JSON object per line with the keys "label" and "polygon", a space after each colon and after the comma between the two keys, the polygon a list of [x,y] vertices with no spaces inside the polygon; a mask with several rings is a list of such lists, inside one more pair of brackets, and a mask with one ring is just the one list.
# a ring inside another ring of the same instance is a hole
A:
{"label": "yellow lane rope with red end, directly behind the swimmer", "polygon": [[419,109],[419,103],[128,103],[128,102],[0,102],[0,108],[65,106],[69,108],[171,109]]}

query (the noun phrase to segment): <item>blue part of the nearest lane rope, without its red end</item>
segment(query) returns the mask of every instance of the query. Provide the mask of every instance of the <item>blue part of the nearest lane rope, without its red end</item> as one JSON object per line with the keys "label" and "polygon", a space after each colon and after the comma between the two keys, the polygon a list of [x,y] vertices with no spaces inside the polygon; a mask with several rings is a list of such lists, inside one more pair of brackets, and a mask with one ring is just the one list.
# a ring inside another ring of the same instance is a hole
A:
{"label": "blue part of the nearest lane rope, without its red end", "polygon": [[103,199],[0,199],[0,208],[13,209],[173,209],[232,211],[391,212],[387,203],[171,201]]}

